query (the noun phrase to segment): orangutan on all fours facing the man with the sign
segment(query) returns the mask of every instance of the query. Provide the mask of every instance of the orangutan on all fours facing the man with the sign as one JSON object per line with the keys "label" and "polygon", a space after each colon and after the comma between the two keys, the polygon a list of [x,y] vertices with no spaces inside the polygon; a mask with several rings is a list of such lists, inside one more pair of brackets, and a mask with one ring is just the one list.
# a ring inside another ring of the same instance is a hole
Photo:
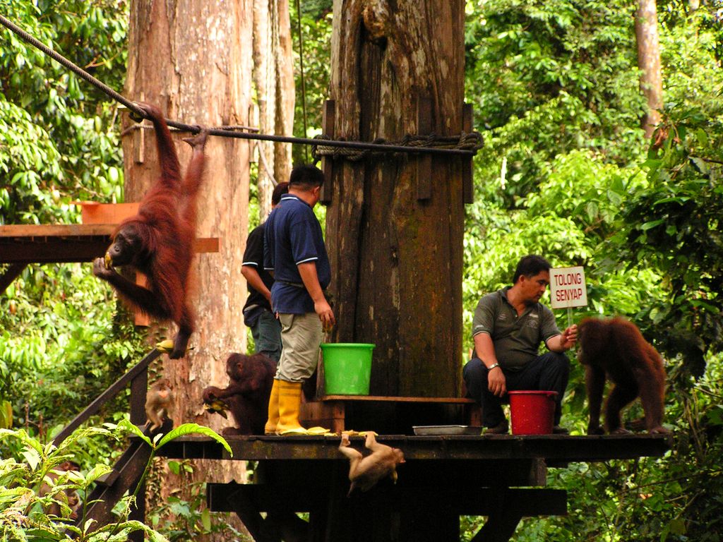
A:
{"label": "orangutan on all fours facing the man with the sign", "polygon": [[585,365],[590,421],[588,434],[602,434],[600,406],[606,377],[615,383],[605,403],[605,431],[627,433],[620,410],[640,397],[645,426],[667,433],[662,426],[665,370],[660,354],[635,324],[620,317],[586,318],[578,325],[578,359]]}

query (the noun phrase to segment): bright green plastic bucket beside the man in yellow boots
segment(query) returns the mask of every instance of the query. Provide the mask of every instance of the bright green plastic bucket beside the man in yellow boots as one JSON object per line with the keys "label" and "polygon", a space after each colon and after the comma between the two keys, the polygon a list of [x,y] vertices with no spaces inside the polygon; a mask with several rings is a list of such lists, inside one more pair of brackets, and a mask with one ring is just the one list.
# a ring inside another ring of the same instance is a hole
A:
{"label": "bright green plastic bucket beside the man in yellow boots", "polygon": [[374,347],[366,343],[322,344],[326,395],[369,395]]}

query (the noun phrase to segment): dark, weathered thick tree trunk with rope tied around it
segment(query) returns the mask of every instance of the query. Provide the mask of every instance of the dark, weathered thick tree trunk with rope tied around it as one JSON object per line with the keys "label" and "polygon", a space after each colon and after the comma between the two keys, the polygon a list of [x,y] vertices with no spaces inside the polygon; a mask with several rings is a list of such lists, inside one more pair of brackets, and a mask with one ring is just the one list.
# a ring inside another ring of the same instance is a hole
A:
{"label": "dark, weathered thick tree trunk with rope tied around it", "polygon": [[[462,0],[335,0],[331,98],[335,139],[459,134]],[[417,124],[431,100],[430,129]],[[372,395],[459,393],[462,164],[432,158],[335,162],[326,236],[335,342],[375,343]],[[423,171],[424,168],[420,168]],[[418,182],[431,186],[418,199]]]}

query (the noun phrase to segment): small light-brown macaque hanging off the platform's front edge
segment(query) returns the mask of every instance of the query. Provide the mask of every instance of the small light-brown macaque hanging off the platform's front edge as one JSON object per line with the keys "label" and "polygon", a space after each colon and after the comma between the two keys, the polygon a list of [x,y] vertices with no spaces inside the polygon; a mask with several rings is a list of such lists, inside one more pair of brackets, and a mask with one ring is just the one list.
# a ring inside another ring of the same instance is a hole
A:
{"label": "small light-brown macaque hanging off the platform's front edge", "polygon": [[397,465],[404,463],[404,454],[401,449],[392,448],[386,444],[379,444],[375,439],[374,433],[367,433],[367,441],[365,442],[367,449],[372,453],[364,457],[361,452],[349,446],[349,436],[346,433],[341,434],[341,444],[339,451],[349,458],[349,480],[351,487],[348,494],[354,489],[359,488],[360,491],[369,491],[382,478],[389,476],[394,483],[397,481]]}

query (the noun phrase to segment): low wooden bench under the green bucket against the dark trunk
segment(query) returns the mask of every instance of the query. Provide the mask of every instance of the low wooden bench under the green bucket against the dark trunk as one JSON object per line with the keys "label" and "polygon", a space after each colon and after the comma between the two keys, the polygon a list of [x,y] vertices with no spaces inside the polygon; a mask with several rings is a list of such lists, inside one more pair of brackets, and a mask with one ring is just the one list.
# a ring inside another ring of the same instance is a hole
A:
{"label": "low wooden bench under the green bucket against the dark trunk", "polygon": [[307,427],[328,427],[335,433],[354,429],[412,434],[412,426],[482,423],[479,405],[466,397],[326,395],[302,403],[299,418]]}

